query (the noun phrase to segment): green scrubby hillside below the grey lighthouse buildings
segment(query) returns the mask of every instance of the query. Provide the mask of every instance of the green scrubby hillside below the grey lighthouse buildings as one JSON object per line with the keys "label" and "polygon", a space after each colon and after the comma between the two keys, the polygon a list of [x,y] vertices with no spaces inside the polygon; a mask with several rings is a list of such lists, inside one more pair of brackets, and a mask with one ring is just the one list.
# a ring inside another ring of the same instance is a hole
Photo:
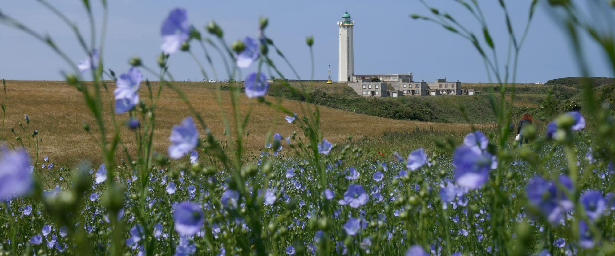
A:
{"label": "green scrubby hillside below the grey lighthouse buildings", "polygon": [[[295,82],[292,85],[298,87],[299,83]],[[280,84],[272,84],[268,94],[293,100],[308,100],[318,105],[371,116],[429,122],[465,122],[461,112],[461,107],[463,107],[470,122],[484,124],[495,121],[488,92],[499,92],[499,86],[492,83],[463,83],[463,88],[477,89],[483,93],[438,97],[376,98],[359,97],[346,84],[327,85],[324,82],[315,82],[305,83],[304,86],[309,92],[307,99],[303,94],[293,93]],[[553,98],[557,100],[557,104],[574,97],[580,91],[574,87],[565,86],[554,88],[544,84],[515,84],[515,111],[538,113],[549,90],[553,90]],[[507,92],[509,94],[506,100],[510,102],[512,91],[507,90]]]}

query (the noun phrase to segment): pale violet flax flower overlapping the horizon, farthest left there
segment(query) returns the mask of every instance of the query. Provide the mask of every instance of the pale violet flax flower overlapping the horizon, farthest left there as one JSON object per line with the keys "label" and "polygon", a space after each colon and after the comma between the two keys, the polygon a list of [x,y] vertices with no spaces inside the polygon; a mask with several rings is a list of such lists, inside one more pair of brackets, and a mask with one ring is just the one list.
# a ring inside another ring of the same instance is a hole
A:
{"label": "pale violet flax flower overlapping the horizon, farthest left there", "polygon": [[116,89],[113,90],[115,96],[115,113],[122,114],[129,110],[132,110],[134,106],[139,103],[139,85],[143,80],[141,72],[132,67],[128,70],[128,73],[121,74],[116,82]]}

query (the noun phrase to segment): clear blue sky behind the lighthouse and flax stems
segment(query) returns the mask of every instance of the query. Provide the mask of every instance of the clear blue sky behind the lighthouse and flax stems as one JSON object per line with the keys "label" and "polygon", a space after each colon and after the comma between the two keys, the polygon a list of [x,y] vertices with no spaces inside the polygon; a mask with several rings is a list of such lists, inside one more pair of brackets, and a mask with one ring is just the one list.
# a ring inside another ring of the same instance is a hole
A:
{"label": "clear blue sky behind the lighthouse and flax stems", "polygon": [[[81,1],[54,1],[58,9],[88,28],[87,16]],[[93,1],[97,2],[97,1]],[[462,23],[476,27],[477,23],[454,1],[430,1],[457,17]],[[483,12],[491,21],[492,36],[499,46],[499,55],[506,54],[506,28],[497,1],[480,1]],[[507,1],[514,26],[525,25],[530,0]],[[287,55],[301,76],[309,79],[311,64],[305,38],[314,36],[314,79],[327,79],[327,65],[331,65],[333,79],[337,77],[338,26],[344,10],[355,21],[355,73],[408,73],[415,81],[432,81],[446,77],[462,82],[488,82],[482,59],[467,41],[423,20],[413,20],[410,14],[429,15],[418,1],[163,1],[109,0],[108,40],[105,52],[106,68],[124,73],[127,60],[140,56],[149,66],[156,66],[161,52],[160,26],[174,7],[188,9],[190,23],[202,28],[215,20],[224,30],[226,40],[232,42],[244,36],[256,36],[258,17],[269,17],[267,34]],[[0,10],[18,18],[40,33],[48,33],[75,62],[84,58],[75,37],[61,20],[44,9],[37,1],[2,1]],[[100,10],[100,9],[97,9]],[[97,22],[101,16],[97,15]],[[520,33],[520,31],[518,31]],[[206,34],[206,33],[204,33]],[[89,36],[86,36],[89,38]],[[585,46],[592,58],[592,76],[613,76],[597,47]],[[200,54],[200,49],[193,47]],[[212,50],[213,52],[213,50]],[[214,54],[217,55],[217,54]],[[275,58],[287,78],[295,76]],[[204,59],[202,59],[204,62]],[[226,78],[223,63],[218,63],[220,79]],[[178,52],[170,60],[172,74],[177,80],[202,79],[200,71],[189,55]],[[48,47],[13,28],[0,25],[0,78],[20,80],[60,80],[67,65]],[[246,72],[244,71],[244,74]],[[578,68],[569,49],[565,34],[539,5],[519,61],[518,82],[546,82],[552,78],[578,76]],[[151,75],[147,78],[155,80]]]}

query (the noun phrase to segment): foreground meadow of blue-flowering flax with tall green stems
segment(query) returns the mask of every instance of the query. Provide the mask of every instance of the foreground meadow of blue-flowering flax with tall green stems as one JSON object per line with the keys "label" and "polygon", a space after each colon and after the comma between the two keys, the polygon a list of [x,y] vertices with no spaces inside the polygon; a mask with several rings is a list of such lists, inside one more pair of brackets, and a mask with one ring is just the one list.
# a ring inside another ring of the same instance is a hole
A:
{"label": "foreground meadow of blue-flowering flax with tall green stems", "polygon": [[[258,38],[228,43],[215,22],[191,25],[190,10],[169,10],[156,28],[162,50],[157,63],[133,57],[132,68],[116,73],[105,66],[105,30],[85,38],[50,2],[39,2],[73,28],[82,60],[66,57],[51,37],[10,14],[0,12],[0,23],[44,42],[73,68],[66,71],[66,83],[89,111],[92,121],[82,127],[97,142],[90,150],[99,151],[84,159],[100,159],[65,166],[40,154],[44,131],[31,129],[28,115],[3,132],[0,255],[615,254],[611,106],[599,102],[587,82],[582,112],[553,113],[545,127],[524,129],[529,143],[515,141],[518,116],[503,99],[514,102],[514,94],[506,92],[515,89],[510,84],[525,33],[509,27],[510,58],[498,66],[478,1],[451,1],[477,18],[482,25],[477,33],[426,3],[431,14],[411,18],[438,23],[472,43],[499,84],[499,93],[490,94],[496,124],[472,126],[457,141],[442,136],[391,154],[370,148],[370,142],[386,140],[337,134],[333,143],[319,107],[296,103],[295,113],[280,98],[264,97],[267,79],[284,77],[277,65],[291,63],[267,37],[266,18],[258,21]],[[106,17],[105,0],[100,10],[88,0],[82,3],[92,27],[93,12]],[[509,20],[505,2],[500,3]],[[524,31],[537,4],[528,5]],[[615,67],[613,36],[593,26],[597,17],[569,1],[549,1],[546,7],[568,24],[563,33],[582,73],[587,74],[587,63],[578,33],[592,34]],[[306,38],[304,49],[311,52],[315,43]],[[212,63],[213,52],[224,62]],[[224,93],[220,86],[215,90],[220,123],[209,124],[192,95],[173,82],[167,62],[178,54],[192,55],[205,78],[211,74],[204,66],[210,66],[244,81],[232,82]],[[254,66],[257,71],[239,77],[242,68]],[[158,81],[156,86],[148,78]],[[304,86],[283,85],[306,94]],[[5,130],[10,83],[3,86]],[[157,108],[169,92],[189,113],[161,131]],[[263,107],[280,121],[259,131],[263,146],[252,154],[247,124],[253,110]],[[218,137],[208,129],[213,126],[223,130]],[[157,140],[159,133],[165,133],[164,140]]]}

